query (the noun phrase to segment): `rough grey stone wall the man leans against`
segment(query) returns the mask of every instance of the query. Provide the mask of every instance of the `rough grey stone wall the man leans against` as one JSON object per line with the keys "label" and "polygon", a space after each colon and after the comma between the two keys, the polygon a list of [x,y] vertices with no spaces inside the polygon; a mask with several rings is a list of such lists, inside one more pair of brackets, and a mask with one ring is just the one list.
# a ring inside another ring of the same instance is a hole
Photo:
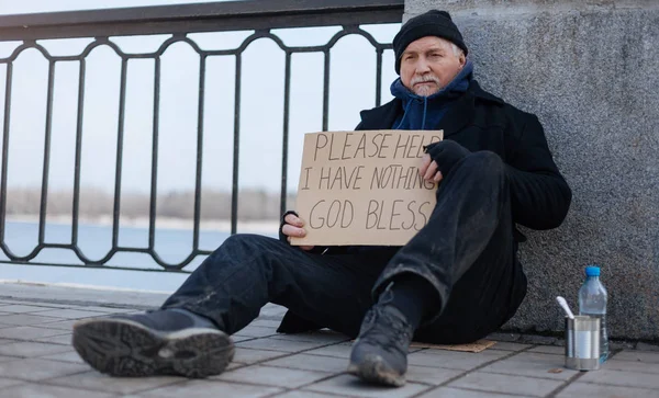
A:
{"label": "rough grey stone wall the man leans against", "polygon": [[538,115],[573,190],[566,223],[525,231],[527,298],[504,329],[562,330],[602,266],[613,338],[659,341],[659,0],[407,0],[451,13],[477,79]]}

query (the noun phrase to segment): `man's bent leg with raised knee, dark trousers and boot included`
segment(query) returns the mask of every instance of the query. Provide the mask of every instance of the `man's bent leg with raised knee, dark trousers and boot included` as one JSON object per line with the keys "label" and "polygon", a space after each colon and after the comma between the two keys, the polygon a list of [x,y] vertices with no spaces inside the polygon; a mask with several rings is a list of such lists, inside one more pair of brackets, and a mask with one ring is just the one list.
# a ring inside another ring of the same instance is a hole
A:
{"label": "man's bent leg with raised knee, dark trousers and boot included", "polygon": [[444,179],[427,225],[373,287],[379,300],[365,318],[350,373],[401,385],[414,332],[432,342],[473,341],[518,305],[504,168],[499,156],[474,152]]}

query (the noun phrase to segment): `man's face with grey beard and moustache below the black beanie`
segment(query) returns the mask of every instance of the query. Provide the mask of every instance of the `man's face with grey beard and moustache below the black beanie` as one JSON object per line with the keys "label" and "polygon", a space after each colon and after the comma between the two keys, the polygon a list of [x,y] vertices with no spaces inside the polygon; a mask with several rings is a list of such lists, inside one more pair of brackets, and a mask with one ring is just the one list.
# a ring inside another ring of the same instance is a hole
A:
{"label": "man's face with grey beard and moustache below the black beanie", "polygon": [[465,66],[449,41],[426,36],[410,43],[401,57],[401,81],[413,93],[429,96],[444,89]]}

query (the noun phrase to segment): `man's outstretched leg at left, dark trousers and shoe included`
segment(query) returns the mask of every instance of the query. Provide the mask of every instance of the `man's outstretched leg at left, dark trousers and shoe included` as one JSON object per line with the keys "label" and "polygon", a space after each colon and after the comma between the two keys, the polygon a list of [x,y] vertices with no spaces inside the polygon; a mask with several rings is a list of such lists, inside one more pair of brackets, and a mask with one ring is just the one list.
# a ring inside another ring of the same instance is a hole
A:
{"label": "man's outstretched leg at left, dark trousers and shoe included", "polygon": [[92,367],[118,376],[204,377],[233,357],[228,338],[268,302],[356,336],[386,261],[303,252],[256,235],[230,237],[160,310],[79,322],[74,346]]}

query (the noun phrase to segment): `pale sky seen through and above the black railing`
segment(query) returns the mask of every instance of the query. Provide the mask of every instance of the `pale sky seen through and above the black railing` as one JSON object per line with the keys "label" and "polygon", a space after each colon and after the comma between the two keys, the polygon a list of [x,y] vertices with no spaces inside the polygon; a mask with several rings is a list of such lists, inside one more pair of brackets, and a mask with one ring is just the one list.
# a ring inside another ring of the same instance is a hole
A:
{"label": "pale sky seen through and above the black railing", "polygon": [[[111,7],[204,2],[200,0],[0,0],[0,15]],[[209,2],[209,1],[205,1]],[[400,24],[362,26],[389,43]],[[340,27],[278,30],[287,45],[325,44]],[[190,34],[204,49],[237,47],[253,32]],[[169,35],[113,37],[125,53],[156,50]],[[52,55],[78,55],[91,38],[38,41]],[[4,109],[7,64],[16,42],[0,42],[0,110]],[[185,43],[161,57],[158,143],[160,193],[194,187],[199,55]],[[330,130],[353,129],[358,112],[375,105],[376,52],[362,37],[342,38],[331,52]],[[210,57],[206,62],[203,117],[202,184],[228,190],[232,183],[235,58]],[[97,47],[86,60],[81,184],[107,192],[114,189],[121,59],[109,46]],[[271,39],[258,39],[244,53],[241,101],[239,186],[277,192],[281,184],[284,54]],[[382,102],[391,99],[393,55],[384,54]],[[52,190],[70,190],[74,181],[78,61],[55,67],[52,122]],[[9,139],[9,186],[42,183],[48,62],[36,49],[13,62]],[[297,190],[304,133],[322,128],[322,54],[293,55],[288,191]],[[150,186],[154,109],[154,60],[127,64],[122,191],[148,193]],[[0,126],[4,115],[0,112]],[[1,132],[0,132],[1,135]],[[0,147],[2,143],[0,140]],[[1,153],[1,152],[0,152]]]}

